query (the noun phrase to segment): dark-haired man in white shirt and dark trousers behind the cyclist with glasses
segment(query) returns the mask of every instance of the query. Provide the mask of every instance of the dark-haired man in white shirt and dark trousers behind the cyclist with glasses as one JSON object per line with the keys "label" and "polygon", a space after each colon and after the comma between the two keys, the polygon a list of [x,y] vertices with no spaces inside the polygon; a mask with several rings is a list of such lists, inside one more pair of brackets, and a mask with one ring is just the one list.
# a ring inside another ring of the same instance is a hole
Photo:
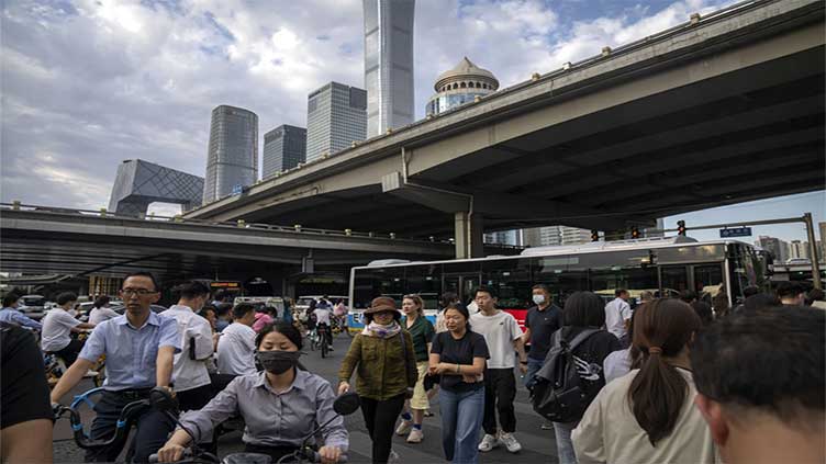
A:
{"label": "dark-haired man in white shirt and dark trousers behind the cyclist with glasses", "polygon": [[212,326],[196,314],[206,303],[210,288],[201,282],[185,282],[172,290],[178,304],[161,313],[174,318],[181,338],[181,352],[175,355],[172,378],[181,411],[201,409],[212,399],[212,382],[206,361],[212,358]]}

